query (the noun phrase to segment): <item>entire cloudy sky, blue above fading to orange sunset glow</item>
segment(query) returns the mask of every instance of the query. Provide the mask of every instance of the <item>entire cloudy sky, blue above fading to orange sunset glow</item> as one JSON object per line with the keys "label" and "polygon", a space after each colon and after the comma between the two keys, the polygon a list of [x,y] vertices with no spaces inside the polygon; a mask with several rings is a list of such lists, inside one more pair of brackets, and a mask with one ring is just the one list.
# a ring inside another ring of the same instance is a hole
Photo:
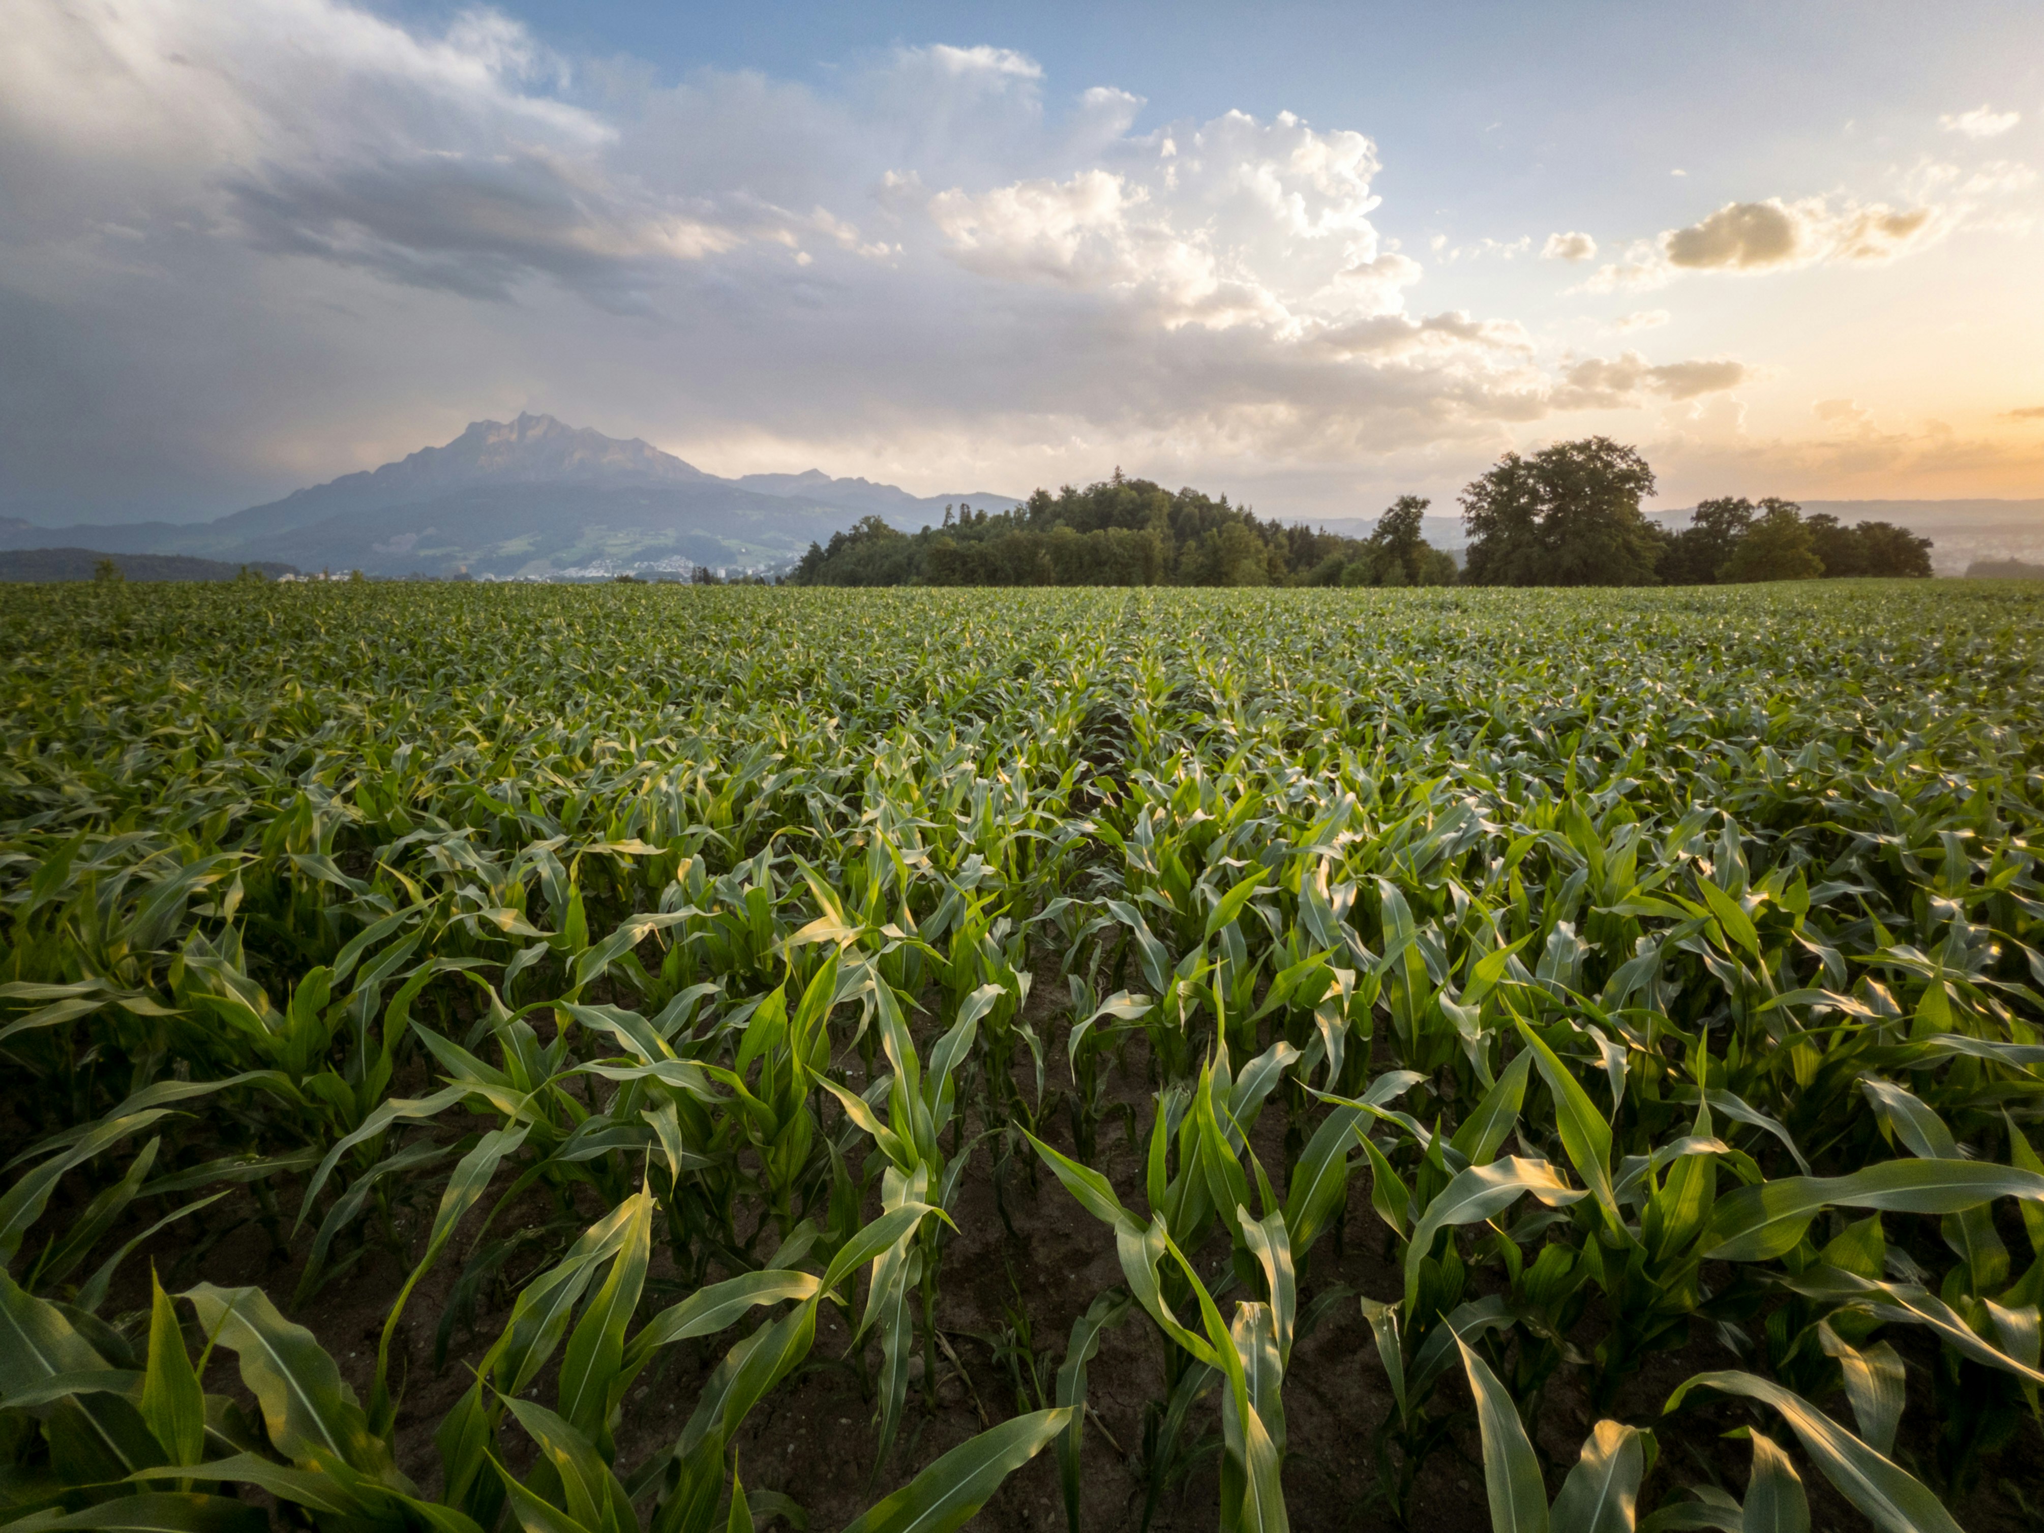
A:
{"label": "entire cloudy sky, blue above fading to orange sunset glow", "polygon": [[2044,497],[2044,8],[10,0],[0,515],[544,411],[918,495]]}

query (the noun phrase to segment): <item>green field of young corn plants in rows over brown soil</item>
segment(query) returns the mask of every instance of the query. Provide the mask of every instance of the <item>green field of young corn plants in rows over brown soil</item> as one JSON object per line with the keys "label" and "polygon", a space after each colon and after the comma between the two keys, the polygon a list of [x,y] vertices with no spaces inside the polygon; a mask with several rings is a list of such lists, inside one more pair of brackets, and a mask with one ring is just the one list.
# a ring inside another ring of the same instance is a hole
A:
{"label": "green field of young corn plants in rows over brown soil", "polygon": [[2044,1515],[2044,587],[0,652],[0,1533]]}

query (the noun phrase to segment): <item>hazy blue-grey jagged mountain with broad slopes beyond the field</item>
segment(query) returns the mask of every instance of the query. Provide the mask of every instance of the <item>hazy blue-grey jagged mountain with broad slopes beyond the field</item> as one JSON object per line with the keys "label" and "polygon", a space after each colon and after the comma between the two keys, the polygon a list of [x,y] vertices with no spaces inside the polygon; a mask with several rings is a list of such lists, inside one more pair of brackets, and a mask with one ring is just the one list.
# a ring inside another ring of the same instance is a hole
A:
{"label": "hazy blue-grey jagged mountain with broad slopes beyond the field", "polygon": [[63,542],[311,570],[572,578],[689,564],[769,568],[863,515],[914,527],[959,501],[993,511],[1016,505],[1010,495],[973,491],[914,497],[818,470],[717,478],[636,437],[619,442],[552,415],[519,415],[476,421],[444,448],[421,448],[219,521],[8,523],[0,546]]}

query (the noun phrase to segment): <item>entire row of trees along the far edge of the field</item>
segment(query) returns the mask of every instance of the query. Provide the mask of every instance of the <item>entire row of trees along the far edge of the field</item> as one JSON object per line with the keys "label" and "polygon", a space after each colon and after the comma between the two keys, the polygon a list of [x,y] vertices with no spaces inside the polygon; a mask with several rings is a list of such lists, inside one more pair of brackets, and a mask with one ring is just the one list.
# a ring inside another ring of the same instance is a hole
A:
{"label": "entire row of trees along the far edge of the field", "polygon": [[789,572],[791,585],[1717,585],[1927,576],[1930,540],[1887,521],[1846,527],[1793,501],[1715,499],[1678,533],[1647,519],[1654,470],[1609,437],[1504,454],[1461,491],[1461,564],[1421,533],[1402,495],[1367,538],[1261,519],[1194,489],[1114,478],[1010,511],[944,507],[899,531],[863,517]]}

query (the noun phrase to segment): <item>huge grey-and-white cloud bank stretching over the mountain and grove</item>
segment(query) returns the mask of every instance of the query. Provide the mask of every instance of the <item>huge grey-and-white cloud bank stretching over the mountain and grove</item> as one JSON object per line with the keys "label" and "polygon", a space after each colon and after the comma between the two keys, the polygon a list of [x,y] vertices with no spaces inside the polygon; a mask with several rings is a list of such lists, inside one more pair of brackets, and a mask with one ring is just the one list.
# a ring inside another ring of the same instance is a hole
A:
{"label": "huge grey-and-white cloud bank stretching over the mountain and grove", "polygon": [[1416,305],[1359,131],[1077,84],[932,43],[660,86],[489,10],[27,0],[0,501],[221,511],[525,403],[910,478],[1345,472],[1744,376]]}

